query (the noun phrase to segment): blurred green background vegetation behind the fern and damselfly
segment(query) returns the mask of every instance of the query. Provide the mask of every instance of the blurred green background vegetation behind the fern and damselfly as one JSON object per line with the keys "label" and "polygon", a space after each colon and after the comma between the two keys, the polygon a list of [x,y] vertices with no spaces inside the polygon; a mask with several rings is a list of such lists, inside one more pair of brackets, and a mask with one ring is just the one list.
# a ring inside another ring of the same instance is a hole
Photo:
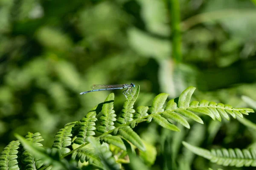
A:
{"label": "blurred green background vegetation behind the fern and damselfly", "polygon": [[[175,98],[192,85],[196,100],[250,107],[241,95],[256,100],[255,5],[255,0],[0,0],[0,150],[15,140],[14,133],[28,131],[40,132],[51,147],[58,129],[80,120],[110,93],[79,95],[93,84],[140,85],[136,106],[151,105],[161,92]],[[114,93],[118,114],[125,97]],[[256,123],[253,114],[247,118]],[[255,131],[236,119],[204,121],[191,122],[190,130],[180,127],[181,133],[142,123],[137,132],[157,150],[153,168],[217,167],[195,159],[180,146],[182,140],[204,148],[256,146]]]}

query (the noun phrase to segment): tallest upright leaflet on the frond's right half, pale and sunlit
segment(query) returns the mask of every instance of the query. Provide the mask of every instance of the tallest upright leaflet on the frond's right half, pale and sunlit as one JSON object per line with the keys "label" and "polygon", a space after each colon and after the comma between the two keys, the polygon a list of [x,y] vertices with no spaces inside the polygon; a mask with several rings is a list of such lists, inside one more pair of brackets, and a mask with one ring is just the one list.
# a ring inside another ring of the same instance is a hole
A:
{"label": "tallest upright leaflet on the frond's right half, pale and sunlit", "polygon": [[188,108],[192,94],[195,91],[195,87],[188,87],[184,90],[179,97],[178,108]]}

